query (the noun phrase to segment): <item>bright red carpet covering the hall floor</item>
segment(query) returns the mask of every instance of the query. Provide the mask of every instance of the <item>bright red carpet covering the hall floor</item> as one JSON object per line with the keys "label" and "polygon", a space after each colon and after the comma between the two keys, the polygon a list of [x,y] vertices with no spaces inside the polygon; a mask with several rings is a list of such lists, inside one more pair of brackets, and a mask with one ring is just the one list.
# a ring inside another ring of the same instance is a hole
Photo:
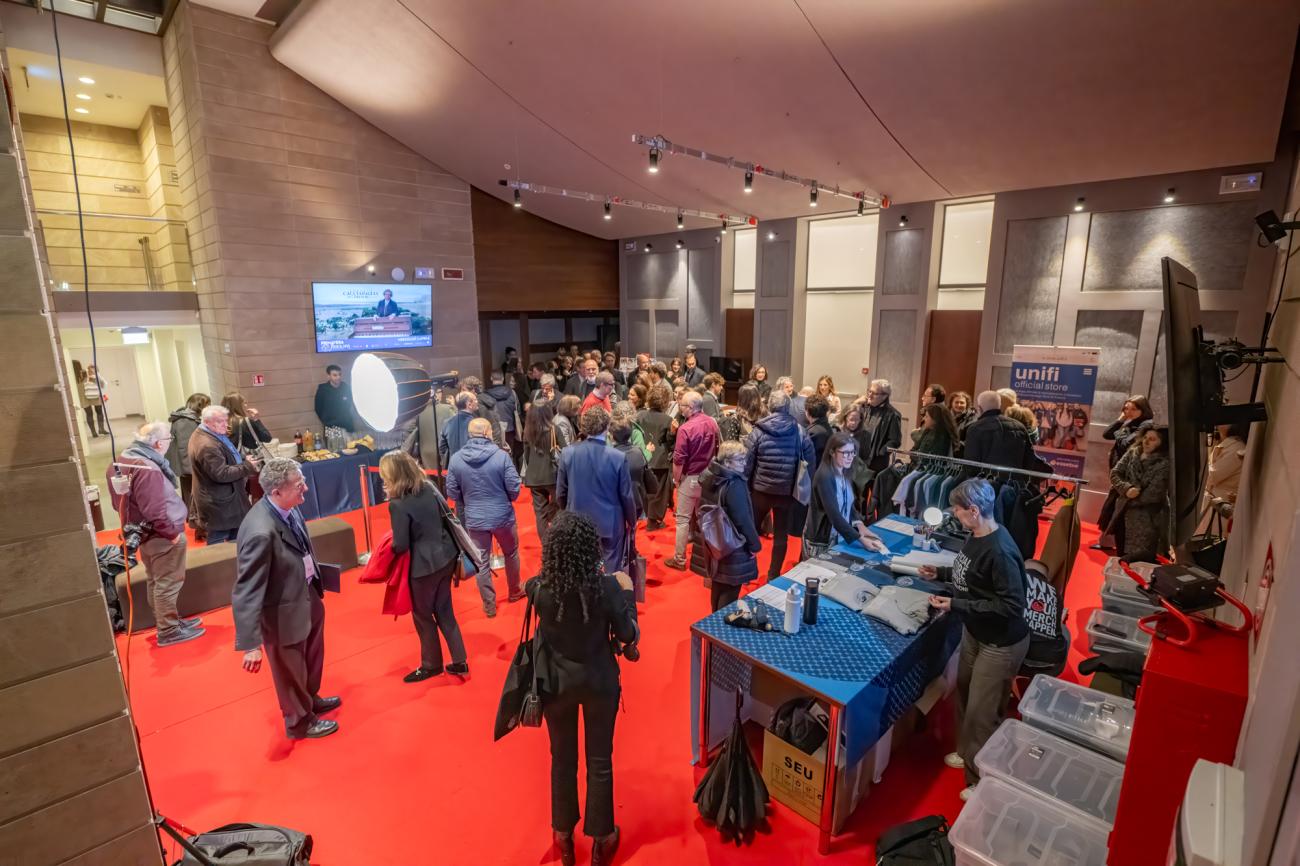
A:
{"label": "bright red carpet covering the hall floor", "polygon": [[[524,499],[526,492],[516,508],[526,579],[540,547]],[[382,532],[386,510],[373,514]],[[361,537],[359,512],[346,516]],[[1095,540],[1096,531],[1086,529],[1066,599],[1074,663],[1083,657],[1083,623],[1097,606],[1104,557],[1086,549]],[[831,856],[816,853],[811,823],[775,802],[770,828],[751,845],[724,844],[692,802],[702,771],[690,765],[688,627],[708,612],[707,590],[698,576],[660,564],[671,553],[671,528],[650,537],[642,532],[640,546],[651,580],[663,583],[650,588],[641,609],[641,662],[623,666],[625,713],[614,753],[623,828],[616,862],[864,863],[884,828],[933,813],[957,817],[962,774],[942,766],[949,744],[919,733],[894,754]],[[204,615],[207,635],[190,644],[159,650],[152,632],[131,640],[131,705],[155,809],[195,830],[239,820],[303,830],[316,837],[317,866],[559,862],[550,848],[545,731],[491,741],[523,603],[503,603],[489,620],[473,581],[463,583],[456,611],[469,680],[442,676],[407,685],[402,676],[419,662],[410,618],[381,616],[382,588],[359,585],[356,575],[344,576],[344,592],[326,599],[322,692],[342,696],[343,707],[333,716],[339,732],[325,740],[283,737],[269,672],[251,675],[239,666],[229,609]],[[498,593],[504,597],[503,576]],[[120,638],[120,648],[125,644]],[[589,858],[580,840],[578,862]]]}

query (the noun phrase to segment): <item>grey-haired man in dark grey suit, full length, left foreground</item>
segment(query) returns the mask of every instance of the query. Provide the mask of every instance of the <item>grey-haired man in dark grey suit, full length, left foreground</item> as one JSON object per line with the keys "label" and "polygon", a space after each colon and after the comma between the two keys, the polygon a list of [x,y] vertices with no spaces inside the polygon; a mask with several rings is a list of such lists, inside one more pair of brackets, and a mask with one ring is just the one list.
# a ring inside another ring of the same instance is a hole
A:
{"label": "grey-haired man in dark grey suit, full length, left foreground", "polygon": [[230,605],[235,650],[243,668],[261,670],[263,651],[291,740],[325,737],[338,722],[320,718],[342,705],[321,697],[325,664],[325,605],[320,568],[307,524],[298,514],[307,481],[295,460],[266,460],[257,479],[265,497],[239,524],[237,576]]}

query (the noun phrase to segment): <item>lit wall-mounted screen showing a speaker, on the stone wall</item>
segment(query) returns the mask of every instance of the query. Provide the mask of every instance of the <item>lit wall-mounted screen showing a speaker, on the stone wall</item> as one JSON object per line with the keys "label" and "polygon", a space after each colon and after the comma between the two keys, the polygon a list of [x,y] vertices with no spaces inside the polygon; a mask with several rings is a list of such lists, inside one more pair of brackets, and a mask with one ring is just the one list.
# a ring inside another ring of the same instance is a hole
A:
{"label": "lit wall-mounted screen showing a speaker, on the stone wall", "polygon": [[433,346],[429,283],[313,282],[316,351]]}

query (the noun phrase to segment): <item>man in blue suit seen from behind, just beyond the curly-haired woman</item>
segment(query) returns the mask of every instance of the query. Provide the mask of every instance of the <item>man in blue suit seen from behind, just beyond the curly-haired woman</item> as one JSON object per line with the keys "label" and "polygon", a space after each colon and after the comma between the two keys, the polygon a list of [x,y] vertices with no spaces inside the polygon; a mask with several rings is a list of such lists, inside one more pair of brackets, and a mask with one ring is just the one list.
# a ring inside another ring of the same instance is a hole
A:
{"label": "man in blue suit seen from behind, just beyond the curly-haired woman", "polygon": [[578,420],[585,437],[560,451],[555,497],[562,508],[585,514],[601,533],[608,573],[627,571],[628,542],[637,531],[637,501],[623,453],[604,441],[610,413],[593,406]]}

